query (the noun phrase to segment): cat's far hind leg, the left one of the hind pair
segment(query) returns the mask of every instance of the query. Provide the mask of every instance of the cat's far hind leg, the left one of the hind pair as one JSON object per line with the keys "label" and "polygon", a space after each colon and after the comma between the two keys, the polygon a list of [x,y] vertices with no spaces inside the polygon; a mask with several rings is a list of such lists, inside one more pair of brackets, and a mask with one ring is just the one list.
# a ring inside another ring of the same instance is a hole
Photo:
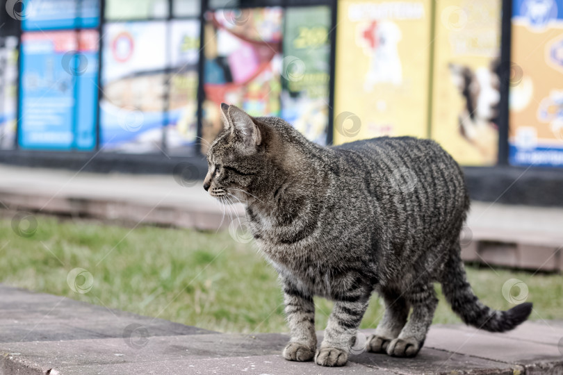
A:
{"label": "cat's far hind leg, the left one of the hind pair", "polygon": [[385,313],[377,324],[375,334],[368,336],[366,349],[372,353],[386,353],[391,340],[398,337],[407,322],[409,305],[402,295],[393,290],[380,290]]}

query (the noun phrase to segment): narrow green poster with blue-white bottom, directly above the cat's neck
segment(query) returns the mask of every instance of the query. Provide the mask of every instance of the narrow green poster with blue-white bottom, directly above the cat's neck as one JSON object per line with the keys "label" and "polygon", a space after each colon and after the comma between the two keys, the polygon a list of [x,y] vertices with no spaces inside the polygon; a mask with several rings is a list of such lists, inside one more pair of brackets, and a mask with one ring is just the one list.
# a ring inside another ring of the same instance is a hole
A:
{"label": "narrow green poster with blue-white bottom, directly above the cat's neck", "polygon": [[327,143],[330,8],[288,8],[282,60],[282,118],[309,140]]}

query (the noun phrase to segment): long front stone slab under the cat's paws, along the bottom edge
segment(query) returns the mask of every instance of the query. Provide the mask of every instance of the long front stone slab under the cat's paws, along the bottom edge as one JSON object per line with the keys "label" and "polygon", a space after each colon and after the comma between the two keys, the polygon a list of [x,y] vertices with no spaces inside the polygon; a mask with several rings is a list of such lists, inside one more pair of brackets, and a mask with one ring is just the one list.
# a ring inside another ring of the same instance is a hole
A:
{"label": "long front stone slab under the cat's paws, along the bottom edge", "polygon": [[12,362],[59,374],[137,374],[141,369],[149,374],[346,374],[360,369],[361,374],[512,374],[521,369],[431,348],[416,358],[361,353],[350,356],[350,365],[342,369],[325,369],[281,358],[287,339],[276,334],[158,337],[139,348],[116,339],[24,342],[4,344],[2,351]]}

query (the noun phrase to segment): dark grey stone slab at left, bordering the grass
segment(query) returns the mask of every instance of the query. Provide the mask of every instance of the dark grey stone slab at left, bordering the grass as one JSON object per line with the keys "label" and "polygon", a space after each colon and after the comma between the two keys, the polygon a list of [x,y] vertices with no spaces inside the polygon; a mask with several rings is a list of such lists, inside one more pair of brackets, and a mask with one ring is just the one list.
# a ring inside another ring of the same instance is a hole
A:
{"label": "dark grey stone slab at left, bordering the grass", "polygon": [[213,333],[0,284],[0,343],[123,338],[132,328],[147,337]]}

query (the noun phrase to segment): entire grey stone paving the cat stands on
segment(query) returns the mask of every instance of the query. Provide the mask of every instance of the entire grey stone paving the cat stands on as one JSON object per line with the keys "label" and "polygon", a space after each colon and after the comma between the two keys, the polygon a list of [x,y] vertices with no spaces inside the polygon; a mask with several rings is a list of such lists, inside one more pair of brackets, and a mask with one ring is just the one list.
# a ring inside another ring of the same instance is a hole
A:
{"label": "entire grey stone paving the cat stands on", "polygon": [[354,348],[348,365],[333,369],[284,360],[287,340],[215,333],[0,284],[5,375],[563,374],[563,322],[526,322],[503,334],[435,325],[416,358]]}

